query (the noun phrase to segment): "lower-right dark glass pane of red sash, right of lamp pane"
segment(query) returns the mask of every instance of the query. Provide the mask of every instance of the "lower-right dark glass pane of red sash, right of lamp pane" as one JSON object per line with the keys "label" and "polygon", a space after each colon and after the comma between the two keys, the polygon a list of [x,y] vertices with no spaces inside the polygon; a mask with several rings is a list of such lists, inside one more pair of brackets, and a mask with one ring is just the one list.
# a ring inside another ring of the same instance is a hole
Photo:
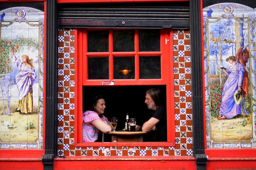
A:
{"label": "lower-right dark glass pane of red sash, right of lamp pane", "polygon": [[159,79],[161,78],[161,57],[148,56],[139,57],[140,79]]}

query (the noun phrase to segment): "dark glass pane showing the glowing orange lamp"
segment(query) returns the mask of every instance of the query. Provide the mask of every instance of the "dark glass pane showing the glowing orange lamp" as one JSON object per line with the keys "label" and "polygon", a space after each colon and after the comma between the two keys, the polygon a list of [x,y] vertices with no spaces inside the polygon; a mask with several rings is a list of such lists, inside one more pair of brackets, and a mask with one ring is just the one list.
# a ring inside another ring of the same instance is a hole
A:
{"label": "dark glass pane showing the glowing orange lamp", "polygon": [[114,79],[134,79],[134,57],[114,57]]}

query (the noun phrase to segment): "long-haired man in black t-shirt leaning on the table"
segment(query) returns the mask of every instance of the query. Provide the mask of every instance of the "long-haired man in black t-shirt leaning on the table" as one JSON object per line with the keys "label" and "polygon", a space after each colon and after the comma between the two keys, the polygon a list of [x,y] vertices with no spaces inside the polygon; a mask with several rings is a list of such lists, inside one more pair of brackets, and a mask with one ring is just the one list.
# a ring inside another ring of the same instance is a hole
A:
{"label": "long-haired man in black t-shirt leaning on the table", "polygon": [[146,92],[145,104],[152,110],[152,117],[143,126],[136,126],[137,131],[154,131],[154,141],[167,141],[166,108],[161,103],[161,91],[151,88]]}

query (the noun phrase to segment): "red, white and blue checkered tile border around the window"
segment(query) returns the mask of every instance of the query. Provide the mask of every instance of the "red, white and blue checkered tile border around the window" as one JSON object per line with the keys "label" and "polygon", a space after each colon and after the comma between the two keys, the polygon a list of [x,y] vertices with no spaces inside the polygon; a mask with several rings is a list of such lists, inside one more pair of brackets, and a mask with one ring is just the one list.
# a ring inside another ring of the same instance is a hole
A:
{"label": "red, white and blue checkered tile border around the window", "polygon": [[[183,156],[192,151],[192,108],[190,33],[173,31],[173,63],[175,78],[175,147],[75,147],[74,138],[74,29],[59,28],[58,55],[58,153],[59,156]],[[82,135],[82,134],[81,134]]]}

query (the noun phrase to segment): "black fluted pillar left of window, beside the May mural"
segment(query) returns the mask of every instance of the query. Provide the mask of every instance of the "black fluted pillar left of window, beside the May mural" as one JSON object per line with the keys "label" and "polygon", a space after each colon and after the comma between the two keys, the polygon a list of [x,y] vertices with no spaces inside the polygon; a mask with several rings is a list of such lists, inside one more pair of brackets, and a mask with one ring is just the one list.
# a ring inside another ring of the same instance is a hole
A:
{"label": "black fluted pillar left of window, beside the May mural", "polygon": [[57,0],[47,0],[46,6],[45,155],[42,162],[44,170],[52,170],[57,154]]}

